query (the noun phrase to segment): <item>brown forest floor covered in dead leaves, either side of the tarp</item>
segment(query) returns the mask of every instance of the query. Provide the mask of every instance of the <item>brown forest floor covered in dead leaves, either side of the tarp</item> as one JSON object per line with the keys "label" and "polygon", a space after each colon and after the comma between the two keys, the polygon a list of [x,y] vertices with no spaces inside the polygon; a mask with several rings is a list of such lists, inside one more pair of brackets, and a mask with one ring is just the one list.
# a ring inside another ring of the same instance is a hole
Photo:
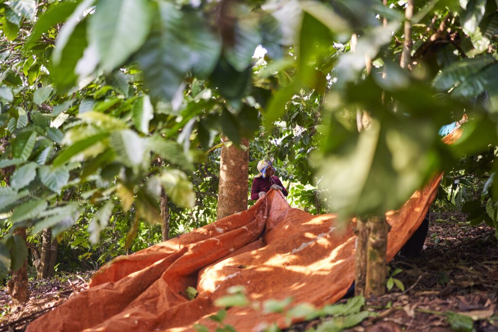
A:
{"label": "brown forest floor covered in dead leaves, either side of the tarp", "polygon": [[[448,312],[472,317],[474,331],[498,331],[495,230],[486,225],[472,227],[459,222],[462,220],[465,220],[463,215],[432,213],[422,255],[411,259],[397,256],[389,264],[390,271],[402,269],[395,278],[403,283],[405,291],[394,286],[387,295],[367,301],[365,308],[378,316],[347,331],[457,331],[450,328],[448,317],[452,314]],[[91,274],[65,274],[62,278],[30,281],[30,301],[15,313],[8,312],[9,297],[1,289],[0,332],[24,331],[35,317],[86,288]],[[320,320],[304,322],[288,331],[301,332],[320,323]],[[461,325],[459,331],[472,331],[472,326],[468,330],[465,322]]]}

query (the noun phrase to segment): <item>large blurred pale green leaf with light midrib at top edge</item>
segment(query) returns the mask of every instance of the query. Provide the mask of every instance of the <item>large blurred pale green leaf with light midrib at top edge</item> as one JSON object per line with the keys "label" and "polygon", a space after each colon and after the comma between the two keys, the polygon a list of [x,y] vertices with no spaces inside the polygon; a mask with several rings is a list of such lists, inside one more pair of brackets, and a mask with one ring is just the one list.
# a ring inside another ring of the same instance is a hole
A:
{"label": "large blurred pale green leaf with light midrib at top edge", "polygon": [[[142,46],[150,29],[147,0],[99,0],[90,17],[88,36],[97,45],[101,67],[111,72]],[[157,64],[159,65],[159,64]]]}

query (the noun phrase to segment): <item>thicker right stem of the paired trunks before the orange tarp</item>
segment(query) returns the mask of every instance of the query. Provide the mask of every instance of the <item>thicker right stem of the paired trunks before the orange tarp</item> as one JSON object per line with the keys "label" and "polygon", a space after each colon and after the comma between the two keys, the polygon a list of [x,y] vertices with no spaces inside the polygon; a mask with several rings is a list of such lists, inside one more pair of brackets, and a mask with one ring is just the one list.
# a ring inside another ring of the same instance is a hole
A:
{"label": "thicker right stem of the paired trunks before the orange tarp", "polygon": [[371,217],[367,220],[367,282],[365,296],[380,296],[385,293],[387,268],[387,233],[389,224],[385,217]]}

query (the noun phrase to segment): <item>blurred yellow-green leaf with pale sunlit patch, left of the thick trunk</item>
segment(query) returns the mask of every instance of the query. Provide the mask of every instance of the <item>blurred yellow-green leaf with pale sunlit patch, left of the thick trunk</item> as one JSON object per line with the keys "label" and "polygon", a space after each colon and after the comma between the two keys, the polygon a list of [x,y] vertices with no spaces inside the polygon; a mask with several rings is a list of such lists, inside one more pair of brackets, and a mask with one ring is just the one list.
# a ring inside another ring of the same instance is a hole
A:
{"label": "blurred yellow-green leaf with pale sunlit patch, left of the thick trunk", "polygon": [[177,206],[182,208],[195,206],[194,187],[185,173],[176,169],[165,170],[159,177],[159,181],[164,192]]}

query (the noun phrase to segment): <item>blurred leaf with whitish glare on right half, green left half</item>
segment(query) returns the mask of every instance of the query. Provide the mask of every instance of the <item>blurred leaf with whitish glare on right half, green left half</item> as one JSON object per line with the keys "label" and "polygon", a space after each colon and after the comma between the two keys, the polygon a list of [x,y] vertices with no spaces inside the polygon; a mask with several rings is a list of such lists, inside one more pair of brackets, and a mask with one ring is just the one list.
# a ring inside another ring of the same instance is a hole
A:
{"label": "blurred leaf with whitish glare on right half, green left half", "polygon": [[111,134],[111,146],[125,165],[137,166],[145,155],[145,141],[134,131],[126,129]]}

